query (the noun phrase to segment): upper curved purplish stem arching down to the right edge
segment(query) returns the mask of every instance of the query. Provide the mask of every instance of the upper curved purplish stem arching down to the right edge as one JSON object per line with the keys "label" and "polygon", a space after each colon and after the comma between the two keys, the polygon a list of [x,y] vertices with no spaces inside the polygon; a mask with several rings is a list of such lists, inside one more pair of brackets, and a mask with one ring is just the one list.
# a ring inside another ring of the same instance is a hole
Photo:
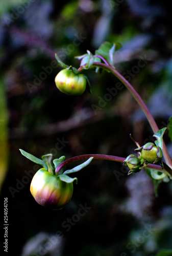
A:
{"label": "upper curved purplish stem arching down to the right edge", "polygon": [[[106,65],[105,63],[101,63],[101,62],[94,62],[93,67],[97,67],[97,68],[103,68],[107,71],[110,71],[112,74],[114,74],[125,86],[126,88],[131,92],[131,94],[133,95],[133,97],[135,98],[135,100],[137,101],[137,103],[139,104],[140,108],[142,109],[142,111],[144,112],[146,118],[148,119],[152,130],[154,133],[156,133],[159,128],[152,116],[152,114],[150,113],[148,107],[146,106],[146,104],[144,103],[144,101],[142,100],[142,98],[140,97],[140,95],[135,91],[135,89],[132,87],[132,85],[124,78],[124,76],[122,76],[116,69],[115,67]],[[80,67],[78,70],[81,71],[82,69],[84,69],[84,67]],[[172,168],[172,162],[171,162],[171,158],[169,156],[169,153],[167,151],[166,145],[163,142],[163,155],[166,161],[166,164]]]}

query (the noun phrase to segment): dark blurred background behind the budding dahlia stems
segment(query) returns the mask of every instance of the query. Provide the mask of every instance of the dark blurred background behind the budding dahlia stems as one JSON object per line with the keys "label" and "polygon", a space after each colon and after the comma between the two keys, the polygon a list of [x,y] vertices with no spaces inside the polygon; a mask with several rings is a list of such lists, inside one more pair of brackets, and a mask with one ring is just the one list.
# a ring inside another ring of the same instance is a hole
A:
{"label": "dark blurred background behind the budding dahlia stems", "polygon": [[[159,128],[166,126],[172,110],[171,8],[172,1],[160,0],[1,0],[1,212],[8,198],[10,255],[153,256],[172,249],[170,182],[161,183],[155,197],[144,170],[127,176],[120,163],[93,160],[77,173],[71,201],[53,211],[33,199],[30,183],[39,166],[19,152],[127,157],[135,148],[130,133],[141,145],[151,140],[151,127],[127,89],[107,96],[118,82],[113,75],[84,71],[92,94],[79,97],[55,86],[61,70],[55,53],[78,68],[74,57],[94,53],[106,40],[120,42],[116,69],[129,75]],[[167,133],[164,140],[172,155]]]}

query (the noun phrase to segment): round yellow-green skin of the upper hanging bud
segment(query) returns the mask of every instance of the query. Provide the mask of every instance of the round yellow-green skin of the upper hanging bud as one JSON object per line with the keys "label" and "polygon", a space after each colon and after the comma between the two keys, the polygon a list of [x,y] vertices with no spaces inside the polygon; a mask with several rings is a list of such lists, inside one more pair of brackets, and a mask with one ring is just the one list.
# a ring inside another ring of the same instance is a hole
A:
{"label": "round yellow-green skin of the upper hanging bud", "polygon": [[67,95],[79,96],[86,89],[87,80],[82,74],[74,74],[71,70],[61,70],[56,78],[57,88]]}

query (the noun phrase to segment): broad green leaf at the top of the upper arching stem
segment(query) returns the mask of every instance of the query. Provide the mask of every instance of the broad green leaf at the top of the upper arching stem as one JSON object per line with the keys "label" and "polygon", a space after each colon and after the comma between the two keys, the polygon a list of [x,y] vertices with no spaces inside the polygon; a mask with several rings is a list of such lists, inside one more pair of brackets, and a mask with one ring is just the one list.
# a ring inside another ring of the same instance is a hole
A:
{"label": "broad green leaf at the top of the upper arching stem", "polygon": [[95,54],[101,55],[104,57],[111,66],[114,65],[113,56],[116,50],[120,49],[121,45],[116,42],[112,44],[111,42],[105,41],[98,50],[95,51]]}

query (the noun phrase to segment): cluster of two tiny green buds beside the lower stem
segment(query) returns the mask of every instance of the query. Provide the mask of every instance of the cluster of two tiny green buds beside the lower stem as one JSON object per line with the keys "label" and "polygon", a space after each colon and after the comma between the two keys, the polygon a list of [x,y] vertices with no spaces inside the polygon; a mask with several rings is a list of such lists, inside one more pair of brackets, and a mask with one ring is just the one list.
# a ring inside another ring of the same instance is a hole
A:
{"label": "cluster of two tiny green buds beside the lower stem", "polygon": [[148,142],[145,145],[136,148],[135,151],[137,151],[137,157],[135,155],[129,155],[124,160],[124,164],[130,168],[128,175],[140,172],[142,168],[150,163],[155,164],[160,162],[160,164],[162,164],[162,150],[152,142]]}

